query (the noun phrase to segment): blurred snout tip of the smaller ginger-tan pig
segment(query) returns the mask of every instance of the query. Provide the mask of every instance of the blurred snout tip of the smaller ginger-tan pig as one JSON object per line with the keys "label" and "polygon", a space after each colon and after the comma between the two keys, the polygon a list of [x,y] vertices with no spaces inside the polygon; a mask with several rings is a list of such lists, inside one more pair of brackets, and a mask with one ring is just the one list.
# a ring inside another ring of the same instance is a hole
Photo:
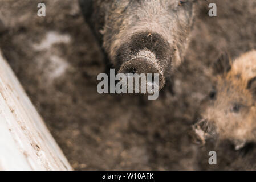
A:
{"label": "blurred snout tip of the smaller ginger-tan pig", "polygon": [[216,140],[217,136],[216,127],[207,119],[202,119],[192,125],[192,130],[190,131],[192,142],[200,146],[204,146],[207,140]]}

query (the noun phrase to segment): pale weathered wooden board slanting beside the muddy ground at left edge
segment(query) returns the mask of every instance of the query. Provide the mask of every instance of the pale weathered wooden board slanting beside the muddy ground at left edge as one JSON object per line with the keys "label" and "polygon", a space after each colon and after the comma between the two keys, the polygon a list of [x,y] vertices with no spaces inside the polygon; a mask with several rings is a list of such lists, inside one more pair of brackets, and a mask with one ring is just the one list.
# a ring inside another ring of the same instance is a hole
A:
{"label": "pale weathered wooden board slanting beside the muddy ground at left edge", "polygon": [[0,170],[71,170],[0,51]]}

